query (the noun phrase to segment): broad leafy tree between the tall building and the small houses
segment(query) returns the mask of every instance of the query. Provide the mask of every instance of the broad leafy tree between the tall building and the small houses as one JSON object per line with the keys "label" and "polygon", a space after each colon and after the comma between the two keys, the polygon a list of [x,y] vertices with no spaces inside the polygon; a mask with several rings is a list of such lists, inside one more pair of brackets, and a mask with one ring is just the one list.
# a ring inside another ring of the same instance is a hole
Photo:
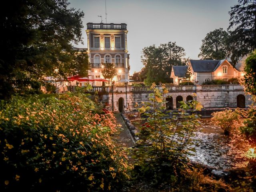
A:
{"label": "broad leafy tree between the tall building and the small houses", "polygon": [[145,84],[153,82],[171,82],[172,66],[184,66],[188,59],[184,58],[184,48],[177,46],[176,42],[168,42],[143,48],[141,61],[145,66]]}

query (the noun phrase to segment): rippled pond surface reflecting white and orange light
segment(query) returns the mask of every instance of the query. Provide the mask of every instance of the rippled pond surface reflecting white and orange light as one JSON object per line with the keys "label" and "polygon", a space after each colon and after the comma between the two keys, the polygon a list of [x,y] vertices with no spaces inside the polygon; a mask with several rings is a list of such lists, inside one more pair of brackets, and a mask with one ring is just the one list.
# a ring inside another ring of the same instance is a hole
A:
{"label": "rippled pond surface reflecting white and orange light", "polygon": [[[228,137],[220,127],[211,123],[210,118],[201,118],[200,122],[202,125],[192,136],[195,152],[194,156],[188,156],[190,160],[221,170],[247,166],[246,152],[250,145],[238,130]],[[140,129],[138,121],[132,123]]]}

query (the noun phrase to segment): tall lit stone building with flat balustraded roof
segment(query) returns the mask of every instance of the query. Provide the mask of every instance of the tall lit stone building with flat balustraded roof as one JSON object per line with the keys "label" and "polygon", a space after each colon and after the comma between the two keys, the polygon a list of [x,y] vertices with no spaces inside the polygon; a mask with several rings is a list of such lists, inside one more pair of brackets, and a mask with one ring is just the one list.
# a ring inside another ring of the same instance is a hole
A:
{"label": "tall lit stone building with flat balustraded roof", "polygon": [[[88,56],[90,58],[90,79],[104,78],[102,63],[114,63],[117,75],[112,79],[129,79],[129,54],[127,50],[126,24],[87,23]],[[102,82],[95,81],[95,86],[102,86]],[[104,84],[103,84],[104,85]],[[109,86],[106,82],[105,86]]]}

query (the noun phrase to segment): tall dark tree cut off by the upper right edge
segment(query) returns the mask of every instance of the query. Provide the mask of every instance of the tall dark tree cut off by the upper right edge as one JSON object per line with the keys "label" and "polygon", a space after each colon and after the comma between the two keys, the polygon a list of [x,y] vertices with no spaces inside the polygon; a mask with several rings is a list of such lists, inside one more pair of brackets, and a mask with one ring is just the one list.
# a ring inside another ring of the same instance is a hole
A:
{"label": "tall dark tree cut off by the upper right edge", "polygon": [[228,51],[235,64],[256,48],[256,0],[238,0],[229,14],[228,30],[235,29],[228,40]]}

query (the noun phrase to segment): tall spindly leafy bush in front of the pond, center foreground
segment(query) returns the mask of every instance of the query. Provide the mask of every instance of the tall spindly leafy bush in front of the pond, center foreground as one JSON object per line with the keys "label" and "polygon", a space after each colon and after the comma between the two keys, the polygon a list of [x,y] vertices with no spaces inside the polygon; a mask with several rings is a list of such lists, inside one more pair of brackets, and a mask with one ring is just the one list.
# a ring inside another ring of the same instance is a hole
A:
{"label": "tall spindly leafy bush in front of the pond, center foreground", "polygon": [[[180,112],[173,119],[165,118],[165,95],[168,90],[162,86],[162,92],[152,84],[150,102],[142,103],[138,112],[147,117],[142,124],[141,140],[134,148],[134,177],[150,180],[154,185],[172,185],[180,180],[181,172],[186,170],[188,160],[186,154],[190,150],[190,136],[198,125],[198,116],[193,112],[202,105],[197,101],[181,102]],[[137,104],[136,104],[137,105]],[[188,115],[186,110],[192,110]],[[182,118],[182,120],[181,120]]]}

